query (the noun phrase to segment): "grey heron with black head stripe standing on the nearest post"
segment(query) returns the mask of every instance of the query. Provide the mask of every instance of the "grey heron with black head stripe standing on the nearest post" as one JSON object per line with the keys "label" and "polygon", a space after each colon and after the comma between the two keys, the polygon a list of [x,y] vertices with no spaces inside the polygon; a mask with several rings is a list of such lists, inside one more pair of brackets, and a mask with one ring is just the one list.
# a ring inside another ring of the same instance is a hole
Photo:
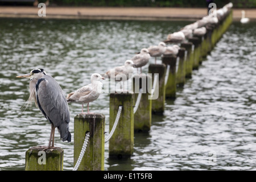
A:
{"label": "grey heron with black head stripe standing on the nearest post", "polygon": [[[51,123],[51,135],[47,148],[54,147],[54,134],[57,127],[60,139],[71,142],[69,132],[69,107],[63,94],[63,90],[56,80],[46,75],[44,69],[33,69],[26,75],[16,76],[19,78],[30,78],[30,97],[28,101],[35,101],[44,117]],[[52,145],[51,145],[52,143]]]}

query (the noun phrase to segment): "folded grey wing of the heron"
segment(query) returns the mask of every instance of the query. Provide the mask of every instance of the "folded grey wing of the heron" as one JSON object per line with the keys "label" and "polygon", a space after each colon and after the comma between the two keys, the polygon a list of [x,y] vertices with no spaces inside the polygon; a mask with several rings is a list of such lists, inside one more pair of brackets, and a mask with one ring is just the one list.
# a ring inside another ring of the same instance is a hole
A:
{"label": "folded grey wing of the heron", "polygon": [[[68,123],[70,113],[67,100],[60,85],[49,75],[36,82],[36,100],[39,109],[55,127],[58,127],[60,137],[71,140]],[[70,137],[70,138],[69,138]]]}

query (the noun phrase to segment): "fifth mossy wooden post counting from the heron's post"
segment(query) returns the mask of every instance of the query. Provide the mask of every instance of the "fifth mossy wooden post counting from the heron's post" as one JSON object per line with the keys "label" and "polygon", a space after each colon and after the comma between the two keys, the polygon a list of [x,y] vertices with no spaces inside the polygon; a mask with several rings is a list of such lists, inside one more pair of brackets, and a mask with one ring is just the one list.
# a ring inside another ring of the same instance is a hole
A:
{"label": "fifth mossy wooden post counting from the heron's post", "polygon": [[148,73],[152,73],[152,82],[154,82],[154,74],[158,73],[158,84],[156,84],[156,92],[158,90],[158,98],[152,100],[152,113],[163,114],[164,102],[166,97],[166,85],[164,78],[166,76],[166,65],[165,64],[150,64],[148,67]]}

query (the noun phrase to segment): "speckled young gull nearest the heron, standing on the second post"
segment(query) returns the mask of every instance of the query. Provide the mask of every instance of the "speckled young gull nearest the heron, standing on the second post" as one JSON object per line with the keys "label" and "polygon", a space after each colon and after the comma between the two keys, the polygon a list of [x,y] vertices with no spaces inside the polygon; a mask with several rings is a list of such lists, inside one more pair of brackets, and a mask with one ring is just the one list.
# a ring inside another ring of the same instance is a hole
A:
{"label": "speckled young gull nearest the heron, standing on the second post", "polygon": [[82,86],[82,88],[76,90],[75,92],[71,92],[67,96],[67,101],[69,102],[76,102],[82,104],[82,114],[84,113],[84,104],[87,103],[87,113],[89,114],[89,102],[97,100],[102,92],[102,82],[100,80],[104,80],[105,78],[102,77],[98,73],[93,73],[90,76],[91,84],[86,86]]}

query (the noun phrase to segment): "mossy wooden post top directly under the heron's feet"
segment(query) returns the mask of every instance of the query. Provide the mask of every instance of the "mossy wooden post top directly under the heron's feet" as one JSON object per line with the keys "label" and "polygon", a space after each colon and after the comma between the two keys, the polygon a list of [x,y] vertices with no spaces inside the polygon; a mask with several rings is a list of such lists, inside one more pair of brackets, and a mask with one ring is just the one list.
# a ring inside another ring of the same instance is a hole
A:
{"label": "mossy wooden post top directly under the heron's feet", "polygon": [[63,171],[63,149],[45,148],[36,146],[26,151],[25,171]]}

